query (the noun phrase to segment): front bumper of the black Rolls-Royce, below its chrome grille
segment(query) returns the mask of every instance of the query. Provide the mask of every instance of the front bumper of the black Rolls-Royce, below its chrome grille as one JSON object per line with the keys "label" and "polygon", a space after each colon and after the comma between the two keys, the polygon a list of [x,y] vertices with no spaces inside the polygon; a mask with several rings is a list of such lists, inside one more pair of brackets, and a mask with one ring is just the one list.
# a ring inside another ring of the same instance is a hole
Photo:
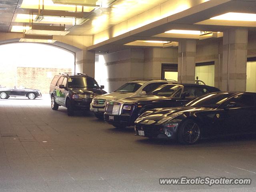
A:
{"label": "front bumper of the black Rolls-Royce, below its chrome grille", "polygon": [[124,124],[126,126],[130,126],[134,124],[129,114],[109,115],[104,113],[104,120],[109,124]]}

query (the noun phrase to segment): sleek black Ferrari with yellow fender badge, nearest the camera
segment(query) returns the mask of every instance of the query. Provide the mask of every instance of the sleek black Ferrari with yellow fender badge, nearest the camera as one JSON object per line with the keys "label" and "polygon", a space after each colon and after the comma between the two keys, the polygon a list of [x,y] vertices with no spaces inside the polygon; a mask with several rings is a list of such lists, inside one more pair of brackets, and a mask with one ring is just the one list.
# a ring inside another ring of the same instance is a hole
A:
{"label": "sleek black Ferrari with yellow fender badge, nearest the camera", "polygon": [[256,132],[256,93],[209,93],[176,108],[148,110],[135,121],[135,134],[194,144],[200,138]]}

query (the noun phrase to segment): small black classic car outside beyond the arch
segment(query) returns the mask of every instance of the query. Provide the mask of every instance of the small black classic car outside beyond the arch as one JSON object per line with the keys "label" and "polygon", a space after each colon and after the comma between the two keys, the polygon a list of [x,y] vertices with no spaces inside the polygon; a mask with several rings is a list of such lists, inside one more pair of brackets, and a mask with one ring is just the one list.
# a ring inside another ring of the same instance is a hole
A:
{"label": "small black classic car outside beyond the arch", "polygon": [[42,94],[37,89],[0,88],[0,98],[8,99],[9,97],[28,97],[28,99],[35,99],[37,97],[42,97]]}

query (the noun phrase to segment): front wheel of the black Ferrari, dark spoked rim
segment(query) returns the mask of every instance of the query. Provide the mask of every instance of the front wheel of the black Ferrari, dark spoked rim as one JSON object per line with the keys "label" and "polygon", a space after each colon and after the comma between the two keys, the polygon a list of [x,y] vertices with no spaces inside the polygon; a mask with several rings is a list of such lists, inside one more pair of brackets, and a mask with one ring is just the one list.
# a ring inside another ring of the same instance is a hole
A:
{"label": "front wheel of the black Ferrari, dark spoked rim", "polygon": [[185,120],[178,130],[178,141],[182,144],[195,144],[201,136],[201,130],[194,120]]}

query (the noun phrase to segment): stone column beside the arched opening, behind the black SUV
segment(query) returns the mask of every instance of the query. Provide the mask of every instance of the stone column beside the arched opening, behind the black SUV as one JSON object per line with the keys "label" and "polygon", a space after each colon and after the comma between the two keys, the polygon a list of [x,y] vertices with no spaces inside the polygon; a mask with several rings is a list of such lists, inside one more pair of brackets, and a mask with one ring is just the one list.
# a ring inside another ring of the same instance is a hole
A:
{"label": "stone column beside the arched opening, behind the black SUV", "polygon": [[76,52],[76,73],[85,73],[90,77],[94,77],[95,52],[85,50]]}

